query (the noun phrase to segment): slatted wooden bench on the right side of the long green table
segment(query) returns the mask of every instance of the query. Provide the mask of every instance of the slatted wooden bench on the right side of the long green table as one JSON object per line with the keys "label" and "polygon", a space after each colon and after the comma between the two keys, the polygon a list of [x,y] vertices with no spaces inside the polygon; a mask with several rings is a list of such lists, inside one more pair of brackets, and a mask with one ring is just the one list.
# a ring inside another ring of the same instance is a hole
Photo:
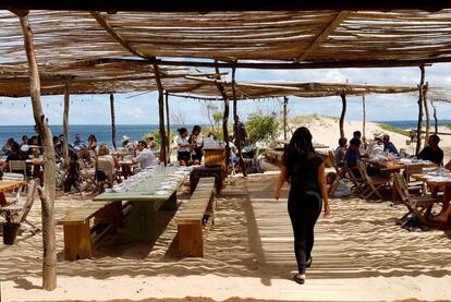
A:
{"label": "slatted wooden bench on the right side of the long green table", "polygon": [[204,216],[209,215],[214,219],[214,189],[215,178],[199,179],[190,201],[176,218],[181,256],[204,256]]}

